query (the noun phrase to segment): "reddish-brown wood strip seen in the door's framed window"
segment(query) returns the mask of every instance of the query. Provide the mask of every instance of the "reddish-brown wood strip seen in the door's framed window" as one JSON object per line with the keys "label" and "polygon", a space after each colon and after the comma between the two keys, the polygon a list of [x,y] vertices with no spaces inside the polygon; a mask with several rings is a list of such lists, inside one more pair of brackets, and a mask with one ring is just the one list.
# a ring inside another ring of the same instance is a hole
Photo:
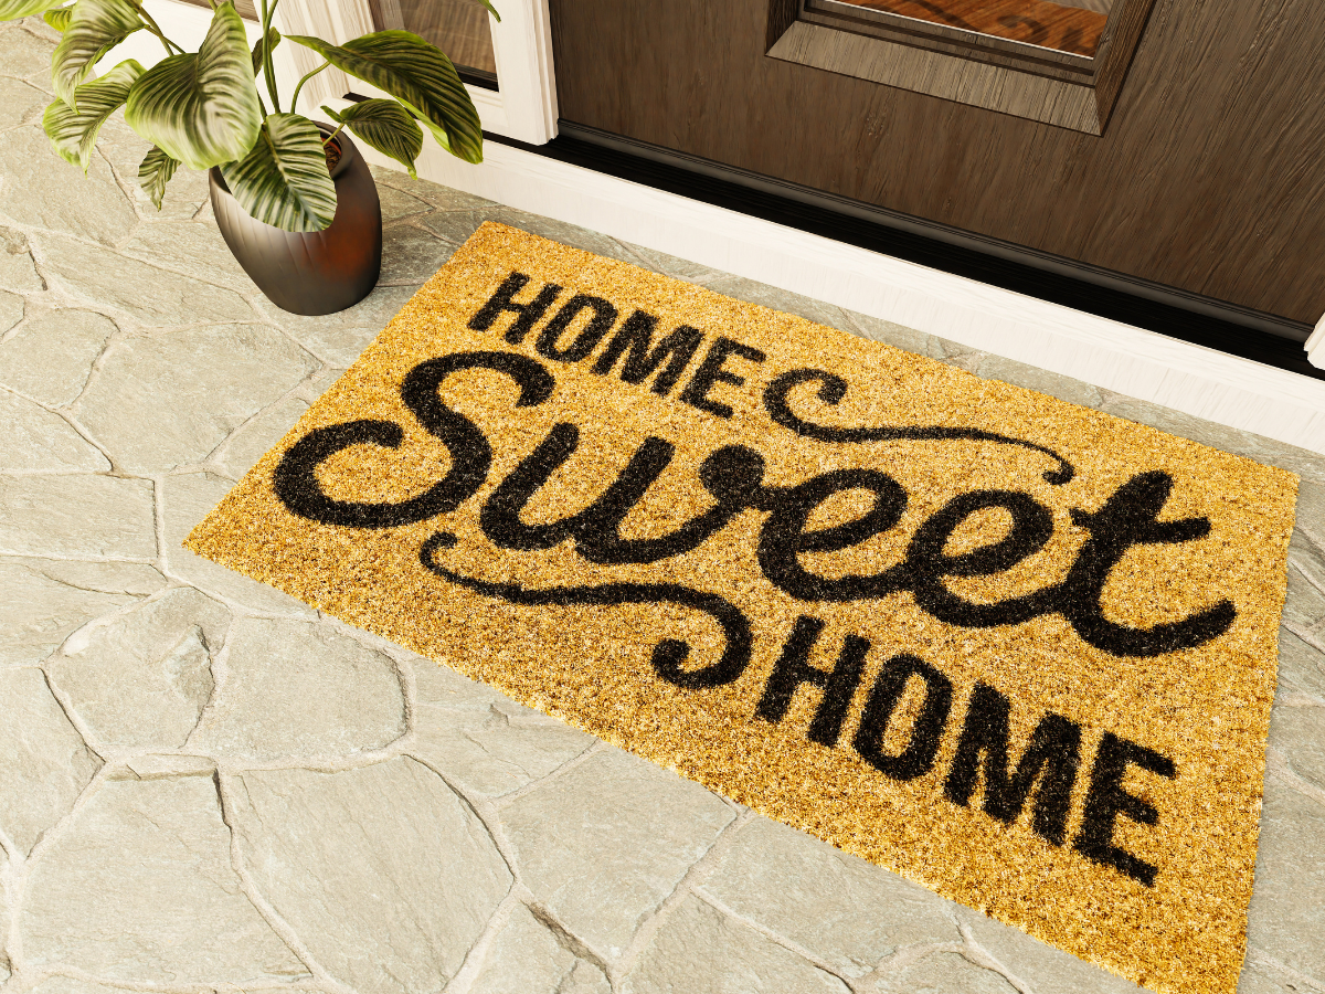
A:
{"label": "reddish-brown wood strip seen in the door's framed window", "polygon": [[1093,56],[1108,17],[1047,0],[837,0],[962,30]]}

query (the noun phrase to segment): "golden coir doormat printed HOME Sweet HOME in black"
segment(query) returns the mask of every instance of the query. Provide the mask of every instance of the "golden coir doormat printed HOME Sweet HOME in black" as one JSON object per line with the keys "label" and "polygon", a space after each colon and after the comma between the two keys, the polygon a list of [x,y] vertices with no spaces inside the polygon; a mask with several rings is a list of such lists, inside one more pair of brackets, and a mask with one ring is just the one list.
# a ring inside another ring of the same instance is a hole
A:
{"label": "golden coir doormat printed HOME Sweet HOME in black", "polygon": [[1296,489],[485,224],[188,547],[1138,983],[1231,994]]}

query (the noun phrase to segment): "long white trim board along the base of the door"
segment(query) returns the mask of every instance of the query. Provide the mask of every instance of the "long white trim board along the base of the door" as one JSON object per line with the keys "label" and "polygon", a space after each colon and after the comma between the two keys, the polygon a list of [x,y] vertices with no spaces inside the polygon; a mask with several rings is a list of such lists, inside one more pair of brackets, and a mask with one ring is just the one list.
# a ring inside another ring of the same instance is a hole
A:
{"label": "long white trim board along the base of the door", "polygon": [[488,142],[484,155],[481,166],[469,166],[428,142],[419,175],[1325,455],[1325,380],[519,148]]}

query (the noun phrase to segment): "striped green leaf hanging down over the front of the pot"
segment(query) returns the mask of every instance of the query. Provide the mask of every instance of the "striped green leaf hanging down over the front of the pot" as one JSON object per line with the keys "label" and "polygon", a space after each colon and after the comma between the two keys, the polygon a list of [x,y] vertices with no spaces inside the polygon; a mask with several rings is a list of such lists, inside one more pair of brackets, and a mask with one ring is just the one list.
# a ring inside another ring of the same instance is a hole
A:
{"label": "striped green leaf hanging down over the front of the pot", "polygon": [[323,231],[335,219],[335,184],[322,133],[298,114],[269,114],[253,151],[221,166],[240,207],[285,231]]}

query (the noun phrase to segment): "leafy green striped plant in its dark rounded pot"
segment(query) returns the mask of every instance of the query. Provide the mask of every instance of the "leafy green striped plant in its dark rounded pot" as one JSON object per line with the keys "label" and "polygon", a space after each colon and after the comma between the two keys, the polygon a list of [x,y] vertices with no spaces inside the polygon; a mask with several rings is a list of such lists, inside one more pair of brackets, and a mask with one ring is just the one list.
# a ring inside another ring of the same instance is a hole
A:
{"label": "leafy green striped plant in its dark rounded pot", "polygon": [[[488,0],[477,0],[497,17]],[[379,30],[343,45],[292,34],[325,61],[307,73],[282,109],[272,50],[280,0],[261,0],[262,36],[249,49],[232,0],[212,0],[212,23],[196,53],[166,37],[140,0],[0,0],[0,20],[44,12],[62,33],[52,56],[56,99],[42,125],[56,151],[82,166],[91,160],[106,119],[125,109],[126,123],[152,143],[138,170],[160,209],[166,184],[184,164],[211,171],[212,205],[227,244],[245,272],[278,306],[329,314],[363,300],[382,266],[382,208],[363,158],[346,130],[415,175],[423,130],[465,162],[482,160],[478,111],[450,60],[407,30]],[[500,20],[500,17],[498,17]],[[93,68],[138,30],[155,34],[167,57],[151,69],[126,60],[101,77]],[[342,113],[333,123],[295,114],[299,90],[329,66],[390,94]],[[265,78],[270,107],[258,91]]]}

